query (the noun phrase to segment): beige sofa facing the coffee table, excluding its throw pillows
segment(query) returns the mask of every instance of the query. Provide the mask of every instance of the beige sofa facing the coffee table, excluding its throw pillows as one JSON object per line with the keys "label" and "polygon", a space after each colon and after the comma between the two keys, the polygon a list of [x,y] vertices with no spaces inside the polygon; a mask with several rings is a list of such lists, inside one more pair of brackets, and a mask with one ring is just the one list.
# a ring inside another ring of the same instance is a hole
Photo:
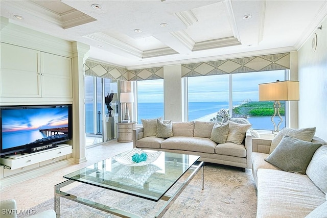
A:
{"label": "beige sofa facing the coffee table, excluding its throw pillows", "polygon": [[[173,122],[173,136],[144,135],[144,126],[133,130],[133,147],[199,155],[200,161],[243,168],[251,168],[252,137],[249,130],[243,134],[241,144],[216,143],[211,140],[212,122]],[[146,136],[146,137],[144,137]]]}

